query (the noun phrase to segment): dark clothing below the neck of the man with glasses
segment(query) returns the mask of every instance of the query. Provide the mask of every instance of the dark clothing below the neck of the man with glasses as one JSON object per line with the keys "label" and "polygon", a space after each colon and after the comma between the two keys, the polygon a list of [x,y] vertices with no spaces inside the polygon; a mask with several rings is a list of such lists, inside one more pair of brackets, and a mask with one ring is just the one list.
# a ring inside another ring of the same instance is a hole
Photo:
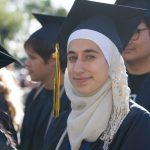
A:
{"label": "dark clothing below the neck of the man with glasses", "polygon": [[150,74],[132,75],[128,73],[131,94],[135,95],[136,103],[150,111]]}

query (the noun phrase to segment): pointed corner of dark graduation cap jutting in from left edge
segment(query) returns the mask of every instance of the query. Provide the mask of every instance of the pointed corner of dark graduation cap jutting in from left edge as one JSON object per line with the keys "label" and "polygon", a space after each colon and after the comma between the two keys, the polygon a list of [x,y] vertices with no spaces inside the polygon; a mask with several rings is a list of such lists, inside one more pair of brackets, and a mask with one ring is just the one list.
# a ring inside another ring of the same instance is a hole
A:
{"label": "pointed corner of dark graduation cap jutting in from left edge", "polygon": [[8,51],[6,51],[6,49],[0,45],[0,68],[5,67],[13,62],[23,65],[22,62],[10,55]]}

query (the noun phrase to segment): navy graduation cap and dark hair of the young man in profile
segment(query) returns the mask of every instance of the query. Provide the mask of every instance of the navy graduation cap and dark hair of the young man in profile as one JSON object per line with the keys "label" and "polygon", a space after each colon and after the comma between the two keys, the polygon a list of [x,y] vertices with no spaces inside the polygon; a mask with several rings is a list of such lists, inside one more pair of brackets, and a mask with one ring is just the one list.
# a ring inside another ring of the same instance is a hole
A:
{"label": "navy graduation cap and dark hair of the young man in profile", "polygon": [[30,35],[24,46],[26,48],[32,45],[37,51],[43,51],[43,54],[40,52],[41,55],[45,56],[45,53],[47,53],[46,57],[49,59],[55,51],[54,44],[64,17],[38,13],[33,13],[33,15],[41,23],[42,27]]}

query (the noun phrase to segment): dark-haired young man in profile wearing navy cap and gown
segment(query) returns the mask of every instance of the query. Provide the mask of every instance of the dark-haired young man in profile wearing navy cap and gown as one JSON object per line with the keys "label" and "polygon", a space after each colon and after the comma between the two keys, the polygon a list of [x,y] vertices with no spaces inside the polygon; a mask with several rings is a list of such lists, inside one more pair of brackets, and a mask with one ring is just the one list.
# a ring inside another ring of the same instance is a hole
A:
{"label": "dark-haired young man in profile wearing navy cap and gown", "polygon": [[[40,82],[28,95],[25,103],[25,116],[21,131],[20,150],[40,150],[47,126],[53,118],[54,76],[56,59],[55,38],[64,17],[34,14],[43,25],[24,43],[28,55],[26,68],[31,79]],[[69,106],[63,93],[63,73],[66,67],[63,53],[60,55],[61,110]]]}

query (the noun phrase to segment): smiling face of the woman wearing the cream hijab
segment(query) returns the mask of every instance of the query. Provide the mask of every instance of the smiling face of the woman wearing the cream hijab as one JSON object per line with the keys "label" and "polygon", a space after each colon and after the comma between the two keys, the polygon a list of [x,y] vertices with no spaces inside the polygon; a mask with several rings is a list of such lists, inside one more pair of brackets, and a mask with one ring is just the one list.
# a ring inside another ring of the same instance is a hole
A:
{"label": "smiling face of the woman wearing the cream hijab", "polygon": [[69,79],[79,93],[93,94],[108,79],[108,64],[101,49],[94,42],[86,39],[71,41],[67,58]]}

